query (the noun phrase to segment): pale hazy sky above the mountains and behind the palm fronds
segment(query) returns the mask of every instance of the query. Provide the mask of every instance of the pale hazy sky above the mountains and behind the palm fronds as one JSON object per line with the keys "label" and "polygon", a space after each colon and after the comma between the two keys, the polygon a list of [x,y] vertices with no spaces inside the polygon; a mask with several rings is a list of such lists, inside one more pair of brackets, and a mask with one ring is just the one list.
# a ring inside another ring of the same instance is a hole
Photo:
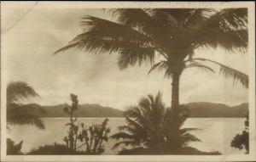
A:
{"label": "pale hazy sky above the mountains and behind the palm fronds", "polygon": [[[79,103],[99,103],[115,109],[134,105],[148,93],[163,92],[171,104],[172,81],[149,65],[119,70],[116,56],[68,50],[53,55],[82,32],[79,25],[86,15],[110,19],[100,9],[45,8],[44,3],[9,5],[2,9],[2,62],[6,81],[26,81],[40,95],[31,99],[42,105],[70,103],[69,94]],[[222,49],[199,49],[196,57],[212,59],[247,74],[248,56]],[[217,67],[214,70],[218,71]],[[247,89],[222,75],[204,70],[183,71],[180,103],[213,102],[230,106],[247,102]]]}

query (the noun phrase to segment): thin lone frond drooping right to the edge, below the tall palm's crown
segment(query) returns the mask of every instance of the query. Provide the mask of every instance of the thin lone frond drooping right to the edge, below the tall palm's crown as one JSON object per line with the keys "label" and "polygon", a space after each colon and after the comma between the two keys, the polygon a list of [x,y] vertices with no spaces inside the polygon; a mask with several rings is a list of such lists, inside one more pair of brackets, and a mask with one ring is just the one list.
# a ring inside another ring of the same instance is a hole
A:
{"label": "thin lone frond drooping right to the edge, below the tall palm's crown", "polygon": [[219,74],[224,75],[225,77],[232,78],[233,79],[233,85],[236,85],[236,83],[239,81],[241,83],[242,87],[249,87],[249,76],[242,73],[241,71],[232,69],[224,64],[220,64],[216,61],[213,61],[211,59],[201,59],[201,58],[195,58],[193,60],[199,60],[199,61],[208,61],[213,64],[218,64],[220,67]]}

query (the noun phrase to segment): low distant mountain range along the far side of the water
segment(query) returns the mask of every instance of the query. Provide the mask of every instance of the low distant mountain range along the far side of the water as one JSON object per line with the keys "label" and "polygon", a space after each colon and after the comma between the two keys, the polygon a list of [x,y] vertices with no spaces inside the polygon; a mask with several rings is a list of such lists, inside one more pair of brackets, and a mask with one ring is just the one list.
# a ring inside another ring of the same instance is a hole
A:
{"label": "low distant mountain range along the far side of the water", "polygon": [[[248,103],[241,103],[236,106],[228,106],[223,103],[185,103],[190,111],[192,118],[240,118],[244,117],[248,111]],[[44,117],[68,117],[63,111],[64,104],[53,106],[44,106],[47,115]],[[103,107],[100,104],[80,104],[79,109],[75,112],[77,117],[124,117],[124,112],[119,109]]]}

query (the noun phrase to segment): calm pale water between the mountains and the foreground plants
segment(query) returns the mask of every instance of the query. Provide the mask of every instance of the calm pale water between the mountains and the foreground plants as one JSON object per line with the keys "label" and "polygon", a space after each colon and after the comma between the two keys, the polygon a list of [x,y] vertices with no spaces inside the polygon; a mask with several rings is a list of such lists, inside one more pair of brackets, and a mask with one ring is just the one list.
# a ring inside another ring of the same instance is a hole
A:
{"label": "calm pale water between the mountains and the foreground plants", "polygon": [[[90,125],[91,123],[101,123],[103,118],[80,118],[79,122]],[[186,120],[183,127],[197,127],[201,131],[193,131],[201,142],[191,142],[190,146],[203,151],[219,151],[222,154],[244,154],[244,150],[230,147],[230,142],[237,133],[244,128],[242,118],[191,118]],[[26,153],[32,148],[38,148],[44,144],[53,142],[64,143],[63,137],[67,135],[67,118],[45,118],[45,130],[39,130],[34,126],[14,126],[11,127],[8,137],[15,142],[23,140],[21,151]],[[111,134],[117,132],[117,127],[125,124],[124,118],[109,118]],[[115,141],[110,140],[105,143],[104,154],[116,154],[117,150],[111,149]]]}

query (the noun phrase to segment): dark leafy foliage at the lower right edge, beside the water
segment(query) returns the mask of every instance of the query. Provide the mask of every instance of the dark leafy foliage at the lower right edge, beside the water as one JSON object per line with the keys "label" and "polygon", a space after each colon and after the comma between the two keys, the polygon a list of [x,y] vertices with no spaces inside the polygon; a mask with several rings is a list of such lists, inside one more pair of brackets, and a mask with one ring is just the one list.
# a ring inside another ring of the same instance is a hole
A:
{"label": "dark leafy foliage at the lower right edge, beside the water", "polygon": [[249,153],[249,115],[247,113],[246,120],[244,122],[245,129],[241,134],[236,134],[230,145],[233,148],[246,149],[246,154]]}

